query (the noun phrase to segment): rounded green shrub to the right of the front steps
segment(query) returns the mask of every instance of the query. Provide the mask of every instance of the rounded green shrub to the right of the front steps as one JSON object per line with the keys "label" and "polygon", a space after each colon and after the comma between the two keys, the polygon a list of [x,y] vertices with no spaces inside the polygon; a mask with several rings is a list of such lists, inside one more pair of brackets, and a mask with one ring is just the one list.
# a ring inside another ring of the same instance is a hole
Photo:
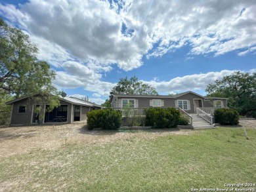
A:
{"label": "rounded green shrub to the right of the front steps", "polygon": [[235,109],[220,108],[214,112],[215,123],[221,125],[238,125],[239,113]]}

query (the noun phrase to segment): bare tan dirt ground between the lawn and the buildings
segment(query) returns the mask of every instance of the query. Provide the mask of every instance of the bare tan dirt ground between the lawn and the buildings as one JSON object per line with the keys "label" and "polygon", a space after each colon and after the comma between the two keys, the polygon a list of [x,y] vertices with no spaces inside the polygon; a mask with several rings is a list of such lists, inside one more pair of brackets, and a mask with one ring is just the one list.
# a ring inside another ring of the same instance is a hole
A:
{"label": "bare tan dirt ground between the lawn and the buildings", "polygon": [[[240,120],[240,126],[256,129],[256,120]],[[0,157],[30,153],[35,149],[56,149],[65,144],[93,144],[136,137],[156,138],[171,134],[193,134],[190,129],[87,130],[84,123],[66,125],[16,126],[0,128]]]}

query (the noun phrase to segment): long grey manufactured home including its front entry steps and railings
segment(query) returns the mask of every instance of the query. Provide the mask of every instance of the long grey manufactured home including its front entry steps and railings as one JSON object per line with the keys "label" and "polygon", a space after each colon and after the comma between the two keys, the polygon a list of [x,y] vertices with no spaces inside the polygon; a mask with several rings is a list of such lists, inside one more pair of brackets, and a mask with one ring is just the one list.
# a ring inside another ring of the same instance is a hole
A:
{"label": "long grey manufactured home including its front entry steps and railings", "polygon": [[[193,121],[196,121],[197,118],[202,118],[213,126],[212,115],[214,110],[216,108],[227,107],[227,100],[228,98],[207,98],[192,91],[172,96],[142,94],[111,94],[110,96],[111,106],[114,109],[123,110],[127,106],[137,111],[148,107],[179,108],[181,113],[186,115],[192,126]],[[197,119],[197,121],[200,121],[200,119]],[[196,124],[194,123],[194,125]]]}

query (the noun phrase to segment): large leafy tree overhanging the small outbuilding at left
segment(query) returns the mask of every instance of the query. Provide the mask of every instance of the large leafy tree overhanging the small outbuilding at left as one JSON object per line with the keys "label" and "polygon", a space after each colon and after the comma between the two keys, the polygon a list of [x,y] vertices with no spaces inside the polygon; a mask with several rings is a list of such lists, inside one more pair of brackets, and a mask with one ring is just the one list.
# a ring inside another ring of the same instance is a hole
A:
{"label": "large leafy tree overhanging the small outbuilding at left", "polygon": [[29,36],[0,19],[0,94],[33,94],[51,85],[54,71],[45,61],[37,59],[38,49]]}

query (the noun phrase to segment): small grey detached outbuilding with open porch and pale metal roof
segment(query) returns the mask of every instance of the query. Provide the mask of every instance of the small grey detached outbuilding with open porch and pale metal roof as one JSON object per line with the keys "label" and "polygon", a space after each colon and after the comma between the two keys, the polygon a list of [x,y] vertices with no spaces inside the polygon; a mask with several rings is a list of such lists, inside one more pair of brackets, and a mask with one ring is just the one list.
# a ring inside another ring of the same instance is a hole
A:
{"label": "small grey detached outbuilding with open porch and pale metal roof", "polygon": [[[74,97],[60,97],[59,100],[60,106],[54,108],[53,111],[47,111],[49,105],[40,106],[31,96],[7,102],[7,105],[12,105],[10,126],[85,121],[88,111],[101,108],[92,102]],[[37,112],[37,107],[41,107],[39,112]]]}

